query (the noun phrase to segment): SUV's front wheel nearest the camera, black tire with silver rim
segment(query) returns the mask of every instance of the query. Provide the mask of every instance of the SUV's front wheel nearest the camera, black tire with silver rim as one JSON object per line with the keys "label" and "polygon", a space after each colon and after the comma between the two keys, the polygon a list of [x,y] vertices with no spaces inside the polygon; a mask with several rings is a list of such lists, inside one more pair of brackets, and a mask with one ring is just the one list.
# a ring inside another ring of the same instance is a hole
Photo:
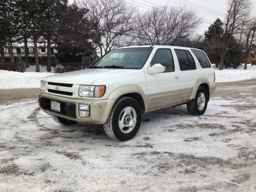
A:
{"label": "SUV's front wheel nearest the camera, black tire with silver rim", "polygon": [[[131,109],[131,120],[129,120],[129,115],[125,116],[124,114],[125,111],[124,110],[129,110]],[[137,118],[134,118],[135,116],[135,112],[136,112],[136,116]],[[124,118],[122,118],[122,117]],[[120,118],[121,117],[121,118]],[[124,120],[126,118],[126,120]],[[121,121],[121,119],[123,119],[123,128],[120,128],[119,126],[119,122]],[[133,119],[136,119],[136,122],[133,121]],[[125,124],[125,123],[132,123],[134,128],[130,128],[130,126],[128,126],[129,124]],[[141,123],[141,108],[140,108],[140,104],[131,97],[120,97],[114,104],[109,118],[106,121],[106,123],[103,124],[104,127],[104,131],[106,133],[106,135],[108,135],[111,139],[116,140],[116,141],[127,141],[132,139],[137,132],[139,131],[140,128],[140,123]],[[127,129],[127,130],[125,130]],[[129,133],[123,133],[123,132],[128,132]]]}

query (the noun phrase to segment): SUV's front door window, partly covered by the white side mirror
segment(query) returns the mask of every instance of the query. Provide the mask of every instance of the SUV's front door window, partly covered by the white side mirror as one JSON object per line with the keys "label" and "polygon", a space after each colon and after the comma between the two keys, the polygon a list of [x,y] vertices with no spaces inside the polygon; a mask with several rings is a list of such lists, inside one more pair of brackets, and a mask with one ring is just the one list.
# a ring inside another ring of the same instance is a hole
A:
{"label": "SUV's front door window, partly covered by the white side mirror", "polygon": [[158,49],[151,61],[151,66],[161,63],[165,67],[164,73],[174,72],[174,59],[169,49]]}

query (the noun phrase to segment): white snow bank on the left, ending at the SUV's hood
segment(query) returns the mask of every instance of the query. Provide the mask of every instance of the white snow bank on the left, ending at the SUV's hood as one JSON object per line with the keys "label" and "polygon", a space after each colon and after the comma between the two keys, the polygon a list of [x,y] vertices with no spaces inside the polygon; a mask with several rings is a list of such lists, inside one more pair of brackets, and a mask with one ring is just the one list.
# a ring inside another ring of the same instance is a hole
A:
{"label": "white snow bank on the left, ending at the SUV's hood", "polygon": [[0,90],[20,88],[40,88],[42,78],[52,73],[14,72],[0,70]]}

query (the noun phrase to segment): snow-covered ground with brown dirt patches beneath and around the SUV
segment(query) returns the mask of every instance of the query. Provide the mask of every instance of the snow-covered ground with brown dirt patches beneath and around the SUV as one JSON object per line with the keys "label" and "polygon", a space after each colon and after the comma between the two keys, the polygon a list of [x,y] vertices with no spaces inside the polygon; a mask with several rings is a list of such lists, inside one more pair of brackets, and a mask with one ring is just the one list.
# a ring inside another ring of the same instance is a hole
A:
{"label": "snow-covered ground with brown dirt patches beneath and around the SUV", "polygon": [[145,113],[126,142],[60,125],[36,99],[2,103],[0,191],[253,191],[255,88],[217,87],[202,116]]}

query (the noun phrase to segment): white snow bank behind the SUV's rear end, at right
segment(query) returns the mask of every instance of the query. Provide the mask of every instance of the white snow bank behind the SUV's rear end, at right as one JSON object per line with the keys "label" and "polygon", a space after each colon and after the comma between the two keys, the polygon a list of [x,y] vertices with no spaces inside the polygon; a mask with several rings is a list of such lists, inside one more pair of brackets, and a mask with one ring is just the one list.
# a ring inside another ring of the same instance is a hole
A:
{"label": "white snow bank behind the SUV's rear end, at right", "polygon": [[240,81],[246,79],[256,78],[256,66],[247,65],[247,70],[244,70],[244,65],[239,66],[238,69],[215,69],[216,82],[230,82]]}

